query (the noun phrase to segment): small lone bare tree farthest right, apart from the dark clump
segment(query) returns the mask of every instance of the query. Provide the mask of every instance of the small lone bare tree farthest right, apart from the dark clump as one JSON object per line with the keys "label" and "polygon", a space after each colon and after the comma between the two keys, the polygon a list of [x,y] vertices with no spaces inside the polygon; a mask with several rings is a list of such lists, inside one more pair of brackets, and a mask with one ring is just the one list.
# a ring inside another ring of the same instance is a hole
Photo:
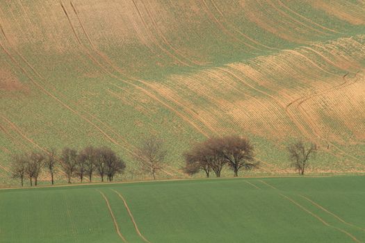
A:
{"label": "small lone bare tree farthest right, apart from the dark clump", "polygon": [[310,142],[298,141],[290,144],[288,151],[291,165],[298,170],[300,175],[304,175],[308,160],[315,155],[317,147],[316,144]]}

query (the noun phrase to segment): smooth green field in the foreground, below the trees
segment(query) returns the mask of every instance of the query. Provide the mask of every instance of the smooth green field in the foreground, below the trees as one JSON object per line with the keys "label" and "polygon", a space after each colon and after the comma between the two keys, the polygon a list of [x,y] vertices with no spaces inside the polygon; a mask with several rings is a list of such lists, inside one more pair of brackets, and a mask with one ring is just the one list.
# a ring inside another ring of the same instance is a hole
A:
{"label": "smooth green field in the foreground, below the trees", "polygon": [[364,185],[338,176],[0,190],[0,242],[364,242]]}

